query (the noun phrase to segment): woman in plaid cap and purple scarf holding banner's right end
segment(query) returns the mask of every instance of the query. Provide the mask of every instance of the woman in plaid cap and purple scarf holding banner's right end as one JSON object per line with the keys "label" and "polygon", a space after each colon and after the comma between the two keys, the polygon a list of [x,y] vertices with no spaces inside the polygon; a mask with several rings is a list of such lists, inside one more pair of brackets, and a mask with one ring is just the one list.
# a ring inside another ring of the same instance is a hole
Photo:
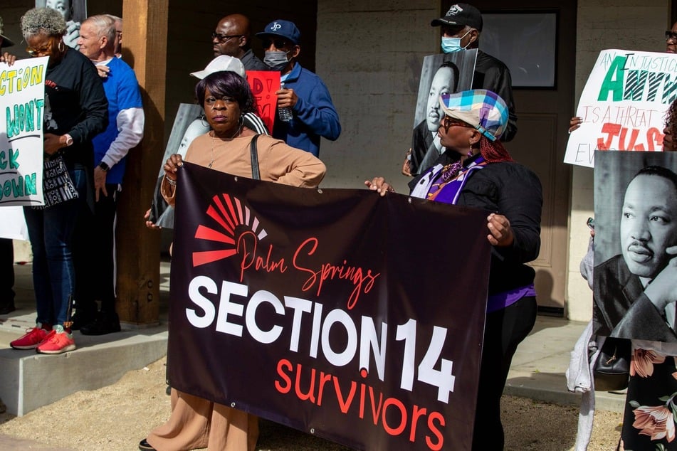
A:
{"label": "woman in plaid cap and purple scarf holding banner's right end", "polygon": [[[508,107],[498,95],[463,91],[441,95],[440,105],[445,117],[438,136],[447,152],[409,186],[414,197],[492,212],[487,217],[493,248],[473,450],[503,450],[500,397],[517,346],[536,320],[535,271],[526,263],[535,260],[540,248],[541,185],[500,144]],[[394,191],[382,177],[364,184],[381,196]],[[469,257],[448,252],[449,258]]]}

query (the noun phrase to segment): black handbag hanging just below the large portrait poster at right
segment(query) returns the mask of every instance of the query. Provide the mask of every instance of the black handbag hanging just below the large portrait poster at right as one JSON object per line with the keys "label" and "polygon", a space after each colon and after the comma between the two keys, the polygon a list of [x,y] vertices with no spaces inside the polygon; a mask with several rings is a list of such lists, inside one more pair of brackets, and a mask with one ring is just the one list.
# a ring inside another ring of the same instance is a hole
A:
{"label": "black handbag hanging just below the large portrait poster at right", "polygon": [[620,391],[628,388],[630,378],[629,339],[607,337],[592,367],[594,388],[599,391]]}

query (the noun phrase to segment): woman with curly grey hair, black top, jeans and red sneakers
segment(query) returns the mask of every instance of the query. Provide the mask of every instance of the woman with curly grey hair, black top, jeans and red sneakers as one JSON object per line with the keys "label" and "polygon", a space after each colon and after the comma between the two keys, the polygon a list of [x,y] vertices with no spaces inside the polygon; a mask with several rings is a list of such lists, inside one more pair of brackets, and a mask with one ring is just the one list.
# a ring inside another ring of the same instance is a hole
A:
{"label": "woman with curly grey hair, black top, jeans and red sneakers", "polygon": [[37,318],[36,327],[10,345],[61,354],[75,349],[70,334],[70,297],[75,292],[73,230],[81,203],[93,201],[91,140],[108,123],[108,101],[92,62],[63,43],[66,24],[58,11],[27,11],[21,17],[21,31],[28,53],[49,58],[43,157],[46,165],[58,161],[58,167],[65,166],[70,177],[65,186],[73,192],[46,208],[23,208],[33,250]]}

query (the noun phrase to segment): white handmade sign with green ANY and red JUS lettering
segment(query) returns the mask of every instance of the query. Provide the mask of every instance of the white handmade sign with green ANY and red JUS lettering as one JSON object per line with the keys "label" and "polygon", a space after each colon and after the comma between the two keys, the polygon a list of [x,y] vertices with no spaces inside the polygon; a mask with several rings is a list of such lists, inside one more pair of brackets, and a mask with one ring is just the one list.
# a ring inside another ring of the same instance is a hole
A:
{"label": "white handmade sign with green ANY and red JUS lettering", "polygon": [[660,152],[665,114],[677,98],[677,55],[604,50],[579,100],[581,127],[565,163],[594,167],[595,150]]}

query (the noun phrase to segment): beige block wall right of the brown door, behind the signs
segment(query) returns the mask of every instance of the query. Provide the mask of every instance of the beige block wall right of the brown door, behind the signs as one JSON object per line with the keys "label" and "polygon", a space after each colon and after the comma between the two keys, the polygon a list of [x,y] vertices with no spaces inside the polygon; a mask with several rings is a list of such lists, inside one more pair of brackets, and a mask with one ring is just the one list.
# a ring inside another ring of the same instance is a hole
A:
{"label": "beige block wall right of the brown door, behind the signs", "polygon": [[[576,97],[580,97],[599,51],[605,48],[665,51],[663,32],[671,26],[669,5],[667,0],[646,0],[641,7],[634,0],[579,1]],[[569,319],[575,321],[588,321],[592,316],[592,292],[579,272],[589,238],[585,221],[594,216],[592,172],[574,166],[572,177],[567,311]]]}

